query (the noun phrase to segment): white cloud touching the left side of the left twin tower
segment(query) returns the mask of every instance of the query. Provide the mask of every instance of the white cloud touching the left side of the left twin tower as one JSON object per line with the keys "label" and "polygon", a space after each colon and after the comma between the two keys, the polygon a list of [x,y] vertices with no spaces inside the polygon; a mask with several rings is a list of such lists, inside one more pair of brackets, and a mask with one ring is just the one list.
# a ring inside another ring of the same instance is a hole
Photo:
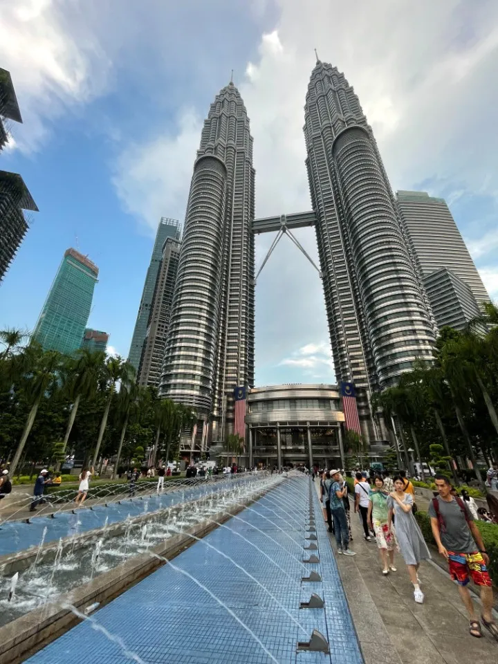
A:
{"label": "white cloud touching the left side of the left twin tower", "polygon": [[201,129],[185,109],[171,133],[131,144],[118,159],[113,183],[122,205],[154,233],[161,216],[183,222]]}

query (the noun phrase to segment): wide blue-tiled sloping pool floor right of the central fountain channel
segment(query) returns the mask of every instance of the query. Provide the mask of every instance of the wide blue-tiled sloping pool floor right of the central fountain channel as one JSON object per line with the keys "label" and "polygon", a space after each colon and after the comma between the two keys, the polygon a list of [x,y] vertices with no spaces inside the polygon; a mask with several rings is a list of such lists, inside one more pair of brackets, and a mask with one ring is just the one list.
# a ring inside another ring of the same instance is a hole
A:
{"label": "wide blue-tiled sloping pool floor right of the central fountain channel", "polygon": [[[306,477],[289,479],[178,555],[174,566],[183,573],[163,566],[28,662],[72,661],[81,653],[100,664],[362,664],[314,491],[318,550],[303,551],[311,543],[304,533],[309,494]],[[319,563],[301,562],[313,553]],[[311,571],[322,582],[302,582]],[[299,609],[313,592],[324,608]],[[297,652],[313,629],[326,637],[330,654]]]}

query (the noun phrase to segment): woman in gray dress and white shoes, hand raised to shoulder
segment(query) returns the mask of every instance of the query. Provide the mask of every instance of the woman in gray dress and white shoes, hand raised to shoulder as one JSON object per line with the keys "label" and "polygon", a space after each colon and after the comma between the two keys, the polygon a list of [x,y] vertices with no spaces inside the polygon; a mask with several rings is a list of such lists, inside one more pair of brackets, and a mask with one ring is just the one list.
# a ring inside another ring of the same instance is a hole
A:
{"label": "woman in gray dress and white shoes, hand raised to shoulder", "polygon": [[387,525],[391,528],[393,514],[395,518],[395,531],[398,545],[408,568],[410,581],[414,586],[414,598],[418,604],[424,600],[423,592],[420,589],[420,580],[417,576],[418,566],[421,560],[429,560],[431,555],[427,544],[418,528],[415,517],[412,513],[413,496],[405,493],[405,483],[401,477],[394,478],[394,491],[389,494],[387,499]]}

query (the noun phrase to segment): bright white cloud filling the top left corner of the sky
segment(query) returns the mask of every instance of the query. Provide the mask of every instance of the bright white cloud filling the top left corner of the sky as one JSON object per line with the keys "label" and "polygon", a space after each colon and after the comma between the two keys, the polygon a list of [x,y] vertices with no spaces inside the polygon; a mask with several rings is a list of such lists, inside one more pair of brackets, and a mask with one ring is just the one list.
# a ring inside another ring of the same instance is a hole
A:
{"label": "bright white cloud filling the top left corner of the sky", "polygon": [[65,9],[57,0],[2,3],[0,66],[12,75],[24,120],[12,130],[26,152],[39,147],[68,104],[104,89],[111,66],[83,17],[73,14],[68,24]]}

